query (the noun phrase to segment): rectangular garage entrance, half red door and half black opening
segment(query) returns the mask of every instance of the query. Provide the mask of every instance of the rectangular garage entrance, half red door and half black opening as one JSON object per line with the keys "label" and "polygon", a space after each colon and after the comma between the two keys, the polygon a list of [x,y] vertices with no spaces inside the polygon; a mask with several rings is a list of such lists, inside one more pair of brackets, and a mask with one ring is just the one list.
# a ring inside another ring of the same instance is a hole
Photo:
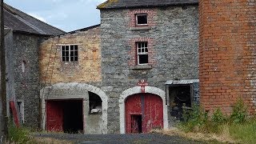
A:
{"label": "rectangular garage entrance, half red door and half black opening", "polygon": [[46,101],[48,131],[78,133],[83,131],[82,100]]}

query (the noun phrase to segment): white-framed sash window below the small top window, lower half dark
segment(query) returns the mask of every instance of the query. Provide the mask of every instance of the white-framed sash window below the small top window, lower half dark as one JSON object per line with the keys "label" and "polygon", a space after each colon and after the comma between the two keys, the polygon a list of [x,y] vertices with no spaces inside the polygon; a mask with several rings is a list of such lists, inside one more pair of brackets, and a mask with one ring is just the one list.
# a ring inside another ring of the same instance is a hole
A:
{"label": "white-framed sash window below the small top window, lower half dark", "polygon": [[147,42],[137,42],[138,65],[146,65],[149,62]]}

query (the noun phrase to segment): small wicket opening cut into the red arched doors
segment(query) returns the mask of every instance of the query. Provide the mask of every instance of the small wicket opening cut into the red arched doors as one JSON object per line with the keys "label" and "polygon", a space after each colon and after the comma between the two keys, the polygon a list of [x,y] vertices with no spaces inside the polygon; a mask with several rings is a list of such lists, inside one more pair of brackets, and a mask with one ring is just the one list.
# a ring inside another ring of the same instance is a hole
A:
{"label": "small wicket opening cut into the red arched doors", "polygon": [[142,115],[131,115],[131,133],[142,133]]}

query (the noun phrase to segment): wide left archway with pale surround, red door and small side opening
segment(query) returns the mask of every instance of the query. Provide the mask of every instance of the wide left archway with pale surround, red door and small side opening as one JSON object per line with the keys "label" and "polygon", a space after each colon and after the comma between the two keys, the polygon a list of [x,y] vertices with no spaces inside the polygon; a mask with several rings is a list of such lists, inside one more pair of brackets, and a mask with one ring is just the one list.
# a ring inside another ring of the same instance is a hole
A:
{"label": "wide left archway with pale surround, red door and small side opening", "polygon": [[108,98],[98,87],[58,83],[43,88],[40,96],[43,130],[107,134]]}

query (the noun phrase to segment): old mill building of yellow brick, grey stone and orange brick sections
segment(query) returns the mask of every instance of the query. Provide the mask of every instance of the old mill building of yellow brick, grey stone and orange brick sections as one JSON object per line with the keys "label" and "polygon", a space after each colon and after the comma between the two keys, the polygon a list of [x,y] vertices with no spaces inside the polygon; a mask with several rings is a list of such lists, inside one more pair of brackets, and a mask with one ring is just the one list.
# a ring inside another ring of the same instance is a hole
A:
{"label": "old mill building of yellow brick, grey stone and orange brick sections", "polygon": [[40,42],[41,90],[30,99],[38,102],[38,123],[67,133],[147,133],[174,126],[192,103],[228,114],[239,97],[254,114],[255,6],[214,0],[102,3],[100,25]]}

